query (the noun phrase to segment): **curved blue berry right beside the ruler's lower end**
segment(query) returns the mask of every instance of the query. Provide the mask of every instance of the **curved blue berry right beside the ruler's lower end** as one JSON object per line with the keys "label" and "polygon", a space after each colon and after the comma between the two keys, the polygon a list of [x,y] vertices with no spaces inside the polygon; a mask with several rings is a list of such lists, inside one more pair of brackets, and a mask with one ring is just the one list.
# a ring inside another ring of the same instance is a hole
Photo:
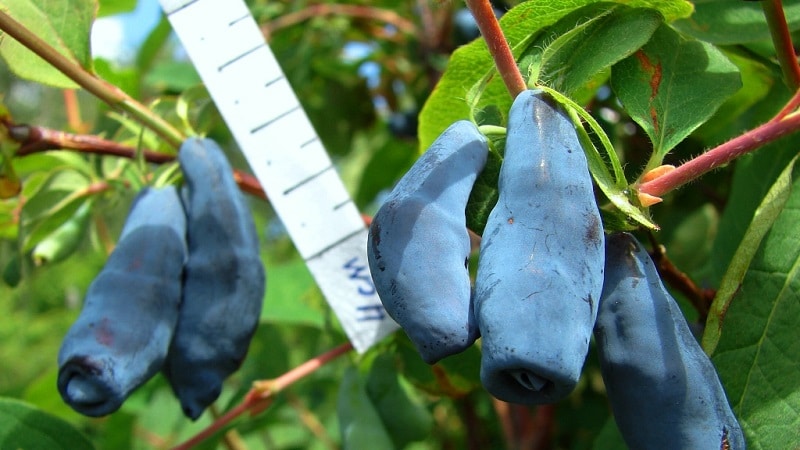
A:
{"label": "curved blue berry right beside the ruler's lower end", "polygon": [[474,124],[454,123],[395,186],[370,226],[367,255],[381,302],[430,364],[478,337],[464,210],[488,152]]}

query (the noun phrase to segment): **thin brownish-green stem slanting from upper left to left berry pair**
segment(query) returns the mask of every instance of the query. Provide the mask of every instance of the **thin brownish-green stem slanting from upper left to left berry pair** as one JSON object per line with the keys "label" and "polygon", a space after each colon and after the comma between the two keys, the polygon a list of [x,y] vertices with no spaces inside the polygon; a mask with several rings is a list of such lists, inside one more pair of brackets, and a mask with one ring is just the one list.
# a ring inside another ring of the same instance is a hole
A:
{"label": "thin brownish-green stem slanting from upper left to left berry pair", "polygon": [[150,111],[146,106],[131,98],[113,84],[98,78],[31,32],[25,25],[17,22],[6,12],[0,11],[0,30],[3,30],[20,44],[50,63],[83,89],[106,102],[113,109],[128,114],[134,120],[153,130],[175,148],[184,140],[183,134]]}

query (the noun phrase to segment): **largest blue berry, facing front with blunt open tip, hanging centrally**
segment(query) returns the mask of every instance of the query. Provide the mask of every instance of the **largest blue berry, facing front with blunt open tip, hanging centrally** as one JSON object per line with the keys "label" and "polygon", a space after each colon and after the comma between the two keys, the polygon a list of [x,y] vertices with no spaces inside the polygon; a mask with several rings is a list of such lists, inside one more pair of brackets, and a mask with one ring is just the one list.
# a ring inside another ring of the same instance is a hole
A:
{"label": "largest blue berry, facing front with blunt open tip, hanging centrally", "polygon": [[475,280],[481,381],[504,401],[552,403],[583,368],[604,240],[573,124],[539,91],[511,107],[498,189]]}

